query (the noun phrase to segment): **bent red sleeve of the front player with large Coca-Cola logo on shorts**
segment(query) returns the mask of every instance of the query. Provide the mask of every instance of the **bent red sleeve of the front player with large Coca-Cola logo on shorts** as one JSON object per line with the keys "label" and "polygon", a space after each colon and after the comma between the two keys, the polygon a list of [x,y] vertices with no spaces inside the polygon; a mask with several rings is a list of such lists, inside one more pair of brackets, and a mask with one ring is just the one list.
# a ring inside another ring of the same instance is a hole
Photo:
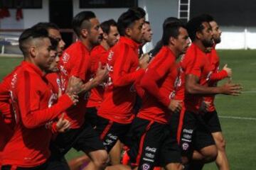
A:
{"label": "bent red sleeve of the front player with large Coca-Cola logo on shorts", "polygon": [[174,61],[170,60],[169,57],[161,57],[160,60],[156,61],[149,65],[144,77],[142,77],[141,86],[146,89],[152,96],[158,99],[164,106],[168,107],[170,104],[170,98],[165,94],[162,94],[159,90],[157,81],[163,79],[166,74],[169,73],[171,65],[174,64]]}

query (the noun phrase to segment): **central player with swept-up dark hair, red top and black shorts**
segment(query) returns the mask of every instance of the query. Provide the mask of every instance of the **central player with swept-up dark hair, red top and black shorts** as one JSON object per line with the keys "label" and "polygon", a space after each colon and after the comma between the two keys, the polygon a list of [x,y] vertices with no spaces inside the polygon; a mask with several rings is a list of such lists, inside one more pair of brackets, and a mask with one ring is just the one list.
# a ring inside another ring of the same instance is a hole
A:
{"label": "central player with swept-up dark hair, red top and black shorts", "polygon": [[[127,142],[127,134],[134,118],[136,92],[134,81],[144,74],[146,63],[139,63],[138,47],[142,42],[140,13],[128,10],[119,16],[117,26],[121,38],[107,57],[109,79],[104,100],[98,109],[96,130],[110,152],[117,140]],[[140,67],[140,68],[139,68]]]}

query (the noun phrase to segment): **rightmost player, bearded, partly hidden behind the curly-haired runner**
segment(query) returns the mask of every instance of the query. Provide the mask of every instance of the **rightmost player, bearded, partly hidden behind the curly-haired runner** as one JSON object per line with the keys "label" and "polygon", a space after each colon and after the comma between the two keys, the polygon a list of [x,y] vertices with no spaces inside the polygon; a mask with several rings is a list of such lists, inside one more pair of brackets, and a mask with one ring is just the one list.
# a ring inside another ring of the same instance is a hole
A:
{"label": "rightmost player, bearded, partly hidden behind the curly-haired runner", "polygon": [[[210,69],[212,74],[210,74],[210,77],[208,77],[208,79],[203,82],[203,85],[204,83],[207,83],[208,86],[216,86],[217,82],[221,79],[232,77],[232,71],[230,68],[228,68],[227,64],[225,64],[223,70],[218,70],[220,67],[220,59],[218,57],[217,51],[215,50],[215,45],[220,43],[221,30],[218,26],[218,23],[216,23],[212,16],[206,15],[206,17],[208,18],[208,22],[210,23],[210,26],[213,30],[214,45],[210,49],[210,52],[208,52],[208,59],[210,60]],[[228,170],[230,168],[228,164],[228,158],[225,153],[225,140],[223,133],[221,132],[222,130],[220,127],[220,120],[218,119],[218,113],[216,112],[214,106],[214,98],[214,95],[206,96],[203,98],[203,101],[208,103],[208,108],[206,109],[205,113],[203,113],[203,120],[206,121],[206,124],[208,125],[208,128],[213,135],[213,139],[218,149],[218,156],[215,160],[215,163],[217,164],[218,169]]]}

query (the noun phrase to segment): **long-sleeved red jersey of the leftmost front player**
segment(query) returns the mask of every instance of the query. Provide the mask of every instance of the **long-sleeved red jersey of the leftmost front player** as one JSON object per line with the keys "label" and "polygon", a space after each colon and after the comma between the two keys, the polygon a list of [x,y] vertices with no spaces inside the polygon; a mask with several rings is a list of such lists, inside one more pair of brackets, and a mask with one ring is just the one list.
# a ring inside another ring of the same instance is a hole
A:
{"label": "long-sleeved red jersey of the leftmost front player", "polygon": [[72,106],[73,101],[64,94],[54,104],[57,98],[46,77],[29,62],[22,62],[21,68],[14,73],[11,98],[16,127],[1,154],[1,163],[21,167],[43,164],[50,156],[48,148],[52,135],[46,124]]}

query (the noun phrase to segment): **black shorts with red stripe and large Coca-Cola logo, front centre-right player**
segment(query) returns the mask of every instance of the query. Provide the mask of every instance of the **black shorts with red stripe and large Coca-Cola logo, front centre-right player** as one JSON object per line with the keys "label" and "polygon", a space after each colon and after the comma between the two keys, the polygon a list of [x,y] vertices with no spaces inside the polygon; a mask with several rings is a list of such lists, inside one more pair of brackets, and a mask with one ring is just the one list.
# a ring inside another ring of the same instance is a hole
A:
{"label": "black shorts with red stripe and large Coca-Cola logo, front centre-right player", "polygon": [[132,144],[129,157],[138,169],[154,169],[170,163],[181,163],[181,150],[171,137],[169,125],[135,118],[129,132]]}

